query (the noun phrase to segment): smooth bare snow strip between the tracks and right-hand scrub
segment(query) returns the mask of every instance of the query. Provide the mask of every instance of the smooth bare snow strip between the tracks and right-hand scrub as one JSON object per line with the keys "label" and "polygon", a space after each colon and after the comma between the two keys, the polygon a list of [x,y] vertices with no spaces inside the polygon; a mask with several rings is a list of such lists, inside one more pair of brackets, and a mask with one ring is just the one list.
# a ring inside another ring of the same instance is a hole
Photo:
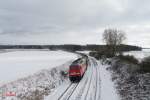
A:
{"label": "smooth bare snow strip between the tracks and right-hand scrub", "polygon": [[120,100],[119,94],[111,80],[111,73],[106,70],[108,65],[100,64],[101,77],[101,99],[100,100]]}

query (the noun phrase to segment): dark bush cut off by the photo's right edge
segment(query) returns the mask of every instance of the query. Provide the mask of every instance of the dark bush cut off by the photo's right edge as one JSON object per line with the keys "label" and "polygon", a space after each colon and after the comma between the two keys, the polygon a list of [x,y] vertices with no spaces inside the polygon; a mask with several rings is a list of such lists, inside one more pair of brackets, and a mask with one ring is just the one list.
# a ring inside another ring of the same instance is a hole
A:
{"label": "dark bush cut off by the photo's right edge", "polygon": [[141,71],[143,72],[150,72],[150,56],[143,59],[140,63]]}

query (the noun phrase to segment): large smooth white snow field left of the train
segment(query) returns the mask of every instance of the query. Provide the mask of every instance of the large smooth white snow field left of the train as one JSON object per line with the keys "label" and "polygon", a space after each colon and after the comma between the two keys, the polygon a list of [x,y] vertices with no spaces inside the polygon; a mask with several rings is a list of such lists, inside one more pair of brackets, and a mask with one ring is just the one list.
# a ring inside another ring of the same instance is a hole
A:
{"label": "large smooth white snow field left of the train", "polygon": [[76,59],[64,51],[23,50],[0,53],[0,85],[26,77],[42,69],[50,69]]}

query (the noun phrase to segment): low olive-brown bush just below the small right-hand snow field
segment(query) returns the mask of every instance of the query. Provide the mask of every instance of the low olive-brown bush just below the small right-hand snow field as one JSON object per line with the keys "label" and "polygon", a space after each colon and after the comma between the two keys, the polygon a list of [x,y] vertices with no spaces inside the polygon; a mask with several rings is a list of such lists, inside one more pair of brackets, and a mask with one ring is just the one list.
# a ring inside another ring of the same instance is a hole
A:
{"label": "low olive-brown bush just below the small right-hand snow field", "polygon": [[118,57],[120,59],[128,61],[130,63],[139,64],[138,60],[134,56],[131,56],[131,55],[119,55]]}

